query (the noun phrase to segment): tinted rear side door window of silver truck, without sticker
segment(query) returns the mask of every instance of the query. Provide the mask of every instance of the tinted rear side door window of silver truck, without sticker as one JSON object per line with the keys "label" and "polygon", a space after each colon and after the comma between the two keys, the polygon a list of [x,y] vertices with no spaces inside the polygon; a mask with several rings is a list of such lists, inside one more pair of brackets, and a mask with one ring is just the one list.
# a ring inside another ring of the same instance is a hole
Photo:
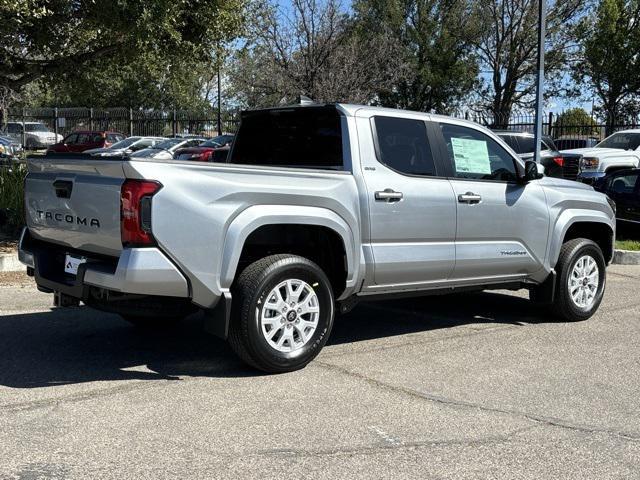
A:
{"label": "tinted rear side door window of silver truck, without sticker", "polygon": [[373,121],[380,163],[408,175],[436,175],[425,122],[378,116]]}

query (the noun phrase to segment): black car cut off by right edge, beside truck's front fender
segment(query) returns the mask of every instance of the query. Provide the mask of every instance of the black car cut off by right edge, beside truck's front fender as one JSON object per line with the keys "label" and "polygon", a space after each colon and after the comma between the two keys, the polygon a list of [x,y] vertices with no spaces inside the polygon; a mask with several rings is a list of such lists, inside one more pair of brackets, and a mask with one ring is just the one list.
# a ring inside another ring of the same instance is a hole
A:
{"label": "black car cut off by right edge, beside truck's front fender", "polygon": [[616,202],[616,219],[634,226],[640,235],[640,168],[618,170],[599,179],[593,188]]}

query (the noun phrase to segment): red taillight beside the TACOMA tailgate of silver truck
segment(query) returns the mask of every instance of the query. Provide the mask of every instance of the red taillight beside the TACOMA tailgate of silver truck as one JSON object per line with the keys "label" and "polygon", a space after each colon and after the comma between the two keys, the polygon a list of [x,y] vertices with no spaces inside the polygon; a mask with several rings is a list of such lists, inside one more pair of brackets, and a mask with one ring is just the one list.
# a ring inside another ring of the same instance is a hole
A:
{"label": "red taillight beside the TACOMA tailgate of silver truck", "polygon": [[126,180],[120,190],[120,236],[122,245],[155,244],[151,234],[151,197],[162,188],[153,180]]}

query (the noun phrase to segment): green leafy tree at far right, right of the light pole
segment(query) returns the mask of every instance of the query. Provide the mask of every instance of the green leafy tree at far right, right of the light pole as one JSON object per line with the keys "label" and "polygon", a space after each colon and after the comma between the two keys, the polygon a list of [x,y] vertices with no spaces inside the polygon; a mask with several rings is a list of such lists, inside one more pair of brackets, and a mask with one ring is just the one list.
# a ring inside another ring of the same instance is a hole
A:
{"label": "green leafy tree at far right, right of the light pole", "polygon": [[640,91],[639,24],[639,0],[601,0],[595,16],[585,17],[576,29],[582,55],[574,79],[602,102],[608,131],[623,103]]}

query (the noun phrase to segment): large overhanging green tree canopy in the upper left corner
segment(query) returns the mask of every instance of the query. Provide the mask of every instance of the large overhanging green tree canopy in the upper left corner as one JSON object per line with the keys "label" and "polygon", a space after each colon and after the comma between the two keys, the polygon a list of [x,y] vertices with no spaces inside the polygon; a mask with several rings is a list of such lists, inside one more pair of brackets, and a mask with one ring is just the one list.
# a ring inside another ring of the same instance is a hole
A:
{"label": "large overhanging green tree canopy in the upper left corner", "polygon": [[[127,104],[137,104],[150,86],[188,97],[193,73],[201,73],[198,67],[210,64],[216,46],[237,34],[245,3],[0,0],[0,86],[17,92],[39,80],[62,96],[73,91],[100,101],[115,92]],[[181,82],[181,75],[191,81]]]}

